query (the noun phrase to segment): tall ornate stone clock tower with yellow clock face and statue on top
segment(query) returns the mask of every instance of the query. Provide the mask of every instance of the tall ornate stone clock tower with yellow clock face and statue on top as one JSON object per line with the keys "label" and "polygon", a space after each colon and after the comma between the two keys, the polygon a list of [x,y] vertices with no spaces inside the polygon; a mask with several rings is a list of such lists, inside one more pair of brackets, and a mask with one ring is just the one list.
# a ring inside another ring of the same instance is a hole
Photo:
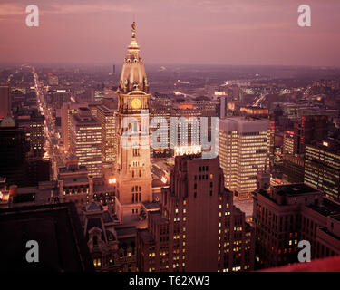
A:
{"label": "tall ornate stone clock tower with yellow clock face and statue on top", "polygon": [[114,175],[117,182],[118,217],[141,212],[141,202],[152,201],[149,137],[149,83],[132,24],[131,43],[118,85],[118,154]]}

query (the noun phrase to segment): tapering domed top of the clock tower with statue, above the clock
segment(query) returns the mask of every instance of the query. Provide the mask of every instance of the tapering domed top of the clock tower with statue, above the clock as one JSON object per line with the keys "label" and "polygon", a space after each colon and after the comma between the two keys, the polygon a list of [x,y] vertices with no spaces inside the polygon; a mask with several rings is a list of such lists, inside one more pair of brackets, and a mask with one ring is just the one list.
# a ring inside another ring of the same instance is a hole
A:
{"label": "tapering domed top of the clock tower with statue, above the clock", "polygon": [[146,78],[145,68],[140,56],[140,47],[136,42],[136,23],[131,25],[131,43],[128,54],[124,59],[121,69],[121,80],[118,90],[122,93],[132,91],[149,92],[149,83]]}

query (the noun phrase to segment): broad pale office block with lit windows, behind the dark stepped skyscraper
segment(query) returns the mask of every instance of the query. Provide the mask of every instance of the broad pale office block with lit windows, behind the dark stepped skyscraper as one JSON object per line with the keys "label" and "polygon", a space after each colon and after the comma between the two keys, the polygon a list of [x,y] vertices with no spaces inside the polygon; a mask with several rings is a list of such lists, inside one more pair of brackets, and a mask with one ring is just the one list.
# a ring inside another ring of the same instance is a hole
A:
{"label": "broad pale office block with lit windows, behind the dark stepped skyscraper", "polygon": [[257,171],[269,169],[270,121],[232,117],[219,120],[219,162],[224,185],[240,198],[257,189]]}

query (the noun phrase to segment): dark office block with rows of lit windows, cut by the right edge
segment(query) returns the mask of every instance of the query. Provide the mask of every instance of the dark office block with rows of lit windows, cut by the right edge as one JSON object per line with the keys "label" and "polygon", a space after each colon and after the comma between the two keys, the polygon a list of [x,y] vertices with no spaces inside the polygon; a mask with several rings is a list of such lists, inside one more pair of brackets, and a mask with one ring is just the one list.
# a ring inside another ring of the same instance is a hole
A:
{"label": "dark office block with rows of lit windows, cut by the right edge", "polygon": [[306,145],[305,183],[325,192],[328,198],[340,200],[340,143],[325,140]]}

